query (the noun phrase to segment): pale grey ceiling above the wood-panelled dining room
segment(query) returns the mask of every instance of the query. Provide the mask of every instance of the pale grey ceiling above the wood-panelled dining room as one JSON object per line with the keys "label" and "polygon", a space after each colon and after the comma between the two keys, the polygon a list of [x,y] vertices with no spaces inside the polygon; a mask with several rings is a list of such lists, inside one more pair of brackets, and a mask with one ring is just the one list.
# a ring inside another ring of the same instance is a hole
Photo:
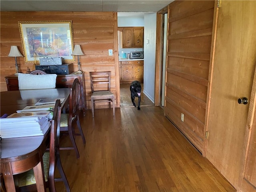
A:
{"label": "pale grey ceiling above the wood-panelled dining room", "polygon": [[158,12],[173,0],[0,0],[1,11]]}

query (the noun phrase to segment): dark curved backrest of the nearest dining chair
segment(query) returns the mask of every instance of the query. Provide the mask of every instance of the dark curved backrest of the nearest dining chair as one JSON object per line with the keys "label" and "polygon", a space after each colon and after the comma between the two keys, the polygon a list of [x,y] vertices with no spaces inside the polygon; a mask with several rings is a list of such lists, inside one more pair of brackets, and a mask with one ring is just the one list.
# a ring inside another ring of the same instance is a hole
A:
{"label": "dark curved backrest of the nearest dining chair", "polygon": [[61,104],[60,100],[56,100],[54,106],[54,112],[52,117],[52,124],[50,130],[50,166],[49,166],[49,188],[50,191],[56,191],[54,184],[54,172],[57,163],[57,154],[60,150],[60,115],[61,115]]}

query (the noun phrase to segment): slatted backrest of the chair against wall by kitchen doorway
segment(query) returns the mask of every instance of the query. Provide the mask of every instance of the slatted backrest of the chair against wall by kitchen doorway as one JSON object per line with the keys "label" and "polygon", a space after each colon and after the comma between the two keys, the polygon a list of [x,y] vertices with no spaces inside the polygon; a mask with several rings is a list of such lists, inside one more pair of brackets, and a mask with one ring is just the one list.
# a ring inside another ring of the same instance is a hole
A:
{"label": "slatted backrest of the chair against wall by kitchen doorway", "polygon": [[92,92],[107,90],[110,91],[111,72],[90,72]]}

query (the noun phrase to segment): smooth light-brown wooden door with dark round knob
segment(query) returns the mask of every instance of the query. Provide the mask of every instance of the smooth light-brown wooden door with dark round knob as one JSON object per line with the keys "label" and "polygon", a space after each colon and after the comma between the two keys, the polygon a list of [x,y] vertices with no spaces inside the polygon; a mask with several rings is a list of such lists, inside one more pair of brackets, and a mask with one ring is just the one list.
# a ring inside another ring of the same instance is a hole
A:
{"label": "smooth light-brown wooden door with dark round knob", "polygon": [[256,1],[221,0],[209,98],[206,158],[239,188],[256,61]]}

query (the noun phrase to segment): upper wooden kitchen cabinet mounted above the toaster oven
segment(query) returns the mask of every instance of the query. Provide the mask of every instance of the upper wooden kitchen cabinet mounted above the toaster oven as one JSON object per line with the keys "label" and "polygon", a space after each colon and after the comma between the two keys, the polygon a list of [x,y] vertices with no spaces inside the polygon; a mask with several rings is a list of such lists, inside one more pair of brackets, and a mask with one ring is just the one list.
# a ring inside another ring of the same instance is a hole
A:
{"label": "upper wooden kitchen cabinet mounted above the toaster oven", "polygon": [[144,27],[123,27],[122,48],[143,48]]}

